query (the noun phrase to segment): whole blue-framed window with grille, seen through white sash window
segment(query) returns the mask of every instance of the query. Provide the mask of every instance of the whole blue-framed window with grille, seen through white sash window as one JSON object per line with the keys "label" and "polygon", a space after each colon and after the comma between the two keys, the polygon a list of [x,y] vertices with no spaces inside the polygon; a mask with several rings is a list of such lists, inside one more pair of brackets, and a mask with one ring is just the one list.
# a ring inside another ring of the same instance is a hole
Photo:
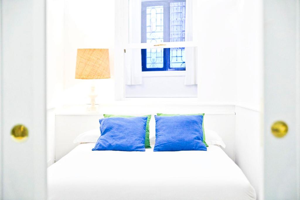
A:
{"label": "whole blue-framed window with grille, seen through white sash window", "polygon": [[[181,42],[185,38],[185,0],[142,2],[142,43]],[[141,49],[142,71],[185,70],[185,49]]]}

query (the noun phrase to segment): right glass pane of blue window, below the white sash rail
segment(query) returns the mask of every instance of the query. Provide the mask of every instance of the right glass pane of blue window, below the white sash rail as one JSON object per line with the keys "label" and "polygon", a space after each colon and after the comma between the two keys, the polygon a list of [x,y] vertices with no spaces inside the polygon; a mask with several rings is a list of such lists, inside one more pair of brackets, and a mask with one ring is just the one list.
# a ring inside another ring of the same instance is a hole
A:
{"label": "right glass pane of blue window, below the white sash rail", "polygon": [[170,48],[170,69],[185,68],[185,49]]}

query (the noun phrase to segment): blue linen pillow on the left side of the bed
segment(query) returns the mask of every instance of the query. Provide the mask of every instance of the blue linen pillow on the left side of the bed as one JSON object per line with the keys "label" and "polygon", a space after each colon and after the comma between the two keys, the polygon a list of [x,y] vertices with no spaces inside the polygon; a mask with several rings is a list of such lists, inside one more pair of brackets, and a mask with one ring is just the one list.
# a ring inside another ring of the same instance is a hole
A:
{"label": "blue linen pillow on the left side of the bed", "polygon": [[101,136],[92,150],[145,151],[145,135],[148,117],[102,118]]}

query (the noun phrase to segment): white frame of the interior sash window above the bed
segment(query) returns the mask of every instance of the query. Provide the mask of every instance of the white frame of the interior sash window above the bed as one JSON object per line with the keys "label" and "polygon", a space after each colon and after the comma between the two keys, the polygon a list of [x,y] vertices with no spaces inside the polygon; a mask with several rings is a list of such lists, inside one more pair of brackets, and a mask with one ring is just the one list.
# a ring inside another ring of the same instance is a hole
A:
{"label": "white frame of the interior sash window above the bed", "polygon": [[[114,53],[114,75],[115,75],[115,99],[116,100],[145,100],[149,101],[199,101],[199,84],[197,97],[179,98],[146,98],[146,97],[125,97],[125,72],[124,72],[124,52],[126,49],[147,49],[147,48],[176,48],[176,47],[196,47],[197,58],[201,59],[201,49],[199,45],[198,33],[199,24],[197,12],[199,4],[193,0],[193,41],[184,42],[161,42],[161,43],[129,43],[129,0],[118,0],[115,3],[115,53]],[[200,68],[197,66],[197,76],[199,77]],[[143,77],[153,76],[184,76],[185,71],[153,71],[142,72]]]}

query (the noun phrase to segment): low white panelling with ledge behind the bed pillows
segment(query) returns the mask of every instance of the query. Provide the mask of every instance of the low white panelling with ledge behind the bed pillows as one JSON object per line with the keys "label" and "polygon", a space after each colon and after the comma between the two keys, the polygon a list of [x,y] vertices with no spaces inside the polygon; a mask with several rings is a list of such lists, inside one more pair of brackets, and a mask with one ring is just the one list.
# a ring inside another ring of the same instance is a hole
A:
{"label": "low white panelling with ledge behind the bed pillows", "polygon": [[[121,103],[122,104],[122,103]],[[159,108],[158,108],[159,107]],[[203,106],[188,103],[186,105],[166,104],[162,106],[142,106],[142,105],[114,105],[113,107],[101,107],[101,113],[123,114],[123,115],[143,115],[162,113],[205,113],[205,128],[216,131],[226,144],[224,151],[234,161],[235,160],[235,112],[234,107],[227,106]],[[61,159],[78,144],[73,144],[73,140],[79,134],[99,128],[99,118],[102,114],[88,114],[85,112],[66,112],[64,109],[55,115],[55,161]],[[149,112],[152,110],[152,112]],[[210,112],[205,112],[211,110]],[[217,111],[219,110],[219,111]],[[108,112],[113,111],[113,112]],[[155,111],[155,112],[153,112]]]}

